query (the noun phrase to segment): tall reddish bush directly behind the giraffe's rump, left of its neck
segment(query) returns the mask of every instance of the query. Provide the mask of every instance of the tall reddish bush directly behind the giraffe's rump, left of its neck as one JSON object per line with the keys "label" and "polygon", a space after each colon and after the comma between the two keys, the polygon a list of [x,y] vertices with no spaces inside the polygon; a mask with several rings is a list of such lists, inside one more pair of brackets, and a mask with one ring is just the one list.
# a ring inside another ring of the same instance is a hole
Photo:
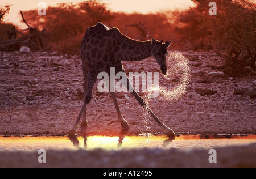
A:
{"label": "tall reddish bush directly behind the giraffe's rump, left of its neck", "polygon": [[115,16],[104,3],[95,0],[77,4],[60,3],[57,7],[48,7],[46,11],[47,15],[39,19],[37,10],[26,11],[24,16],[35,27],[46,27],[51,33],[52,49],[64,54],[79,54],[86,29],[97,22],[109,24]]}

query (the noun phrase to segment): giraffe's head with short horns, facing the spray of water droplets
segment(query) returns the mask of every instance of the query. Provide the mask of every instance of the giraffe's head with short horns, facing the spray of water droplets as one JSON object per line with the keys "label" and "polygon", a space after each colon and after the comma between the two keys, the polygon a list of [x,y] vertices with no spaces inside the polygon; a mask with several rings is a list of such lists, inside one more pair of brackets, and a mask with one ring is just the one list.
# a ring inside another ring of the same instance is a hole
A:
{"label": "giraffe's head with short horns, facing the spray of water droplets", "polygon": [[160,42],[155,39],[151,40],[151,44],[153,45],[153,57],[158,65],[160,65],[160,69],[164,75],[167,74],[166,56],[168,55],[167,48],[170,46],[171,42],[172,41],[166,41],[163,44],[163,40]]}

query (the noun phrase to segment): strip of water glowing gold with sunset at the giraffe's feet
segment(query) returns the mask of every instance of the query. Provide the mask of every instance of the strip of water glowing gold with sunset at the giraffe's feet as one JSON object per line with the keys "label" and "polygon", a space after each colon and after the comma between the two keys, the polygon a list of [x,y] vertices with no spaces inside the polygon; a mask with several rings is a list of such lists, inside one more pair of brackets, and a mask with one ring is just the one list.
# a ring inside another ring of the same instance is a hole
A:
{"label": "strip of water glowing gold with sunset at the giraffe's feet", "polygon": [[80,137],[0,137],[0,151],[31,151],[39,149],[122,150],[133,148],[216,148],[256,143],[256,135],[180,135],[174,140],[163,135],[150,136],[80,136]]}

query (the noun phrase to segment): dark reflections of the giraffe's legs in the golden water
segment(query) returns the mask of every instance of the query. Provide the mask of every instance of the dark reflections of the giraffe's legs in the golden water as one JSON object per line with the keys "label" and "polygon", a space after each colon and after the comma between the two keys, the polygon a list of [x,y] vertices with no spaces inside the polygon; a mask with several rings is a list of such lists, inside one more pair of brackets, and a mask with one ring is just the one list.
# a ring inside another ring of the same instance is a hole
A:
{"label": "dark reflections of the giraffe's legs in the golden water", "polygon": [[[127,131],[122,130],[121,133],[119,134],[118,140],[117,140],[117,148],[121,148],[123,141],[125,140],[125,134]],[[72,142],[73,146],[76,147],[76,149],[80,148],[80,142],[79,139],[76,136],[69,136],[69,140]],[[87,149],[88,146],[88,135],[86,135],[86,132],[82,133],[82,138],[84,139],[84,149]],[[150,138],[147,137],[149,141]],[[165,140],[163,141],[162,147],[167,147],[171,144],[171,142],[175,139],[174,137],[166,137],[164,138]],[[143,145],[143,144],[142,144]],[[145,146],[147,147],[147,146]]]}

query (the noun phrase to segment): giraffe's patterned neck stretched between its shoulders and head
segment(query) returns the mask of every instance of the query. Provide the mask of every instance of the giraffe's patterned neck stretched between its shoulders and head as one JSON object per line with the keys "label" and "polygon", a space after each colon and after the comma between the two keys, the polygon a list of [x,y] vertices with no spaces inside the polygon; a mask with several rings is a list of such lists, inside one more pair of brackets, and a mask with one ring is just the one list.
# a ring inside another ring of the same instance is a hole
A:
{"label": "giraffe's patterned neck stretched between its shoulders and head", "polygon": [[122,35],[118,58],[123,61],[139,61],[152,56],[151,41],[137,41]]}

